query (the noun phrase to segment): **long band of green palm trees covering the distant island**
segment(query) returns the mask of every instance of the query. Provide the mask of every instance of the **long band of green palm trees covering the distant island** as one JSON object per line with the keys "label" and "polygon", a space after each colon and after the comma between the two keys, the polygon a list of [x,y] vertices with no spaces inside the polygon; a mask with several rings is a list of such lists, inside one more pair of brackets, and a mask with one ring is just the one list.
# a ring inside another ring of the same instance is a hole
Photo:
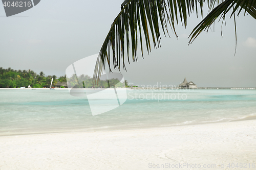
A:
{"label": "long band of green palm trees covering the distant island", "polygon": [[[0,88],[50,88],[51,80],[53,79],[53,86],[59,88],[67,88],[67,78],[65,76],[45,76],[44,72],[40,72],[39,75],[33,70],[14,70],[10,67],[4,69],[0,67]],[[130,87],[125,80],[124,83],[120,83],[118,79],[100,80],[97,85],[93,85],[91,77],[88,75],[81,75],[78,79],[83,80],[83,84],[78,84],[75,88],[108,88],[113,85],[116,87]],[[69,83],[76,83],[76,77],[73,75],[68,78]]]}

